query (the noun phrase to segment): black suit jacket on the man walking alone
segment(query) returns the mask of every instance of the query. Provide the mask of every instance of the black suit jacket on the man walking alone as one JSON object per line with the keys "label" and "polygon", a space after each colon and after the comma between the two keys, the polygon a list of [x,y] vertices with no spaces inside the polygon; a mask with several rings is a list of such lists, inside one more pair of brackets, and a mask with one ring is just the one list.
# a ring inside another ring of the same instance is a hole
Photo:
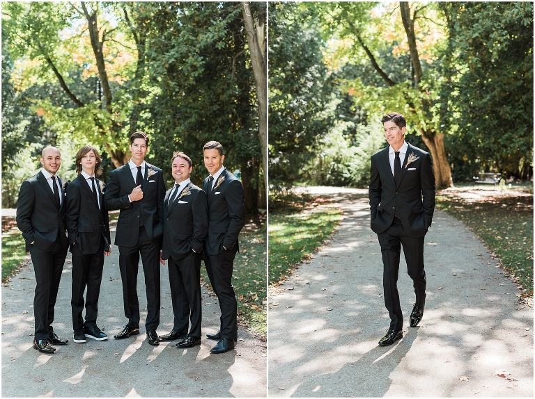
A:
{"label": "black suit jacket on the man walking alone", "polygon": [[[435,174],[431,155],[408,145],[396,187],[388,159],[389,147],[371,156],[369,187],[371,229],[380,234],[394,221],[394,209],[410,238],[426,235],[435,211]],[[410,154],[415,161],[407,165]]]}

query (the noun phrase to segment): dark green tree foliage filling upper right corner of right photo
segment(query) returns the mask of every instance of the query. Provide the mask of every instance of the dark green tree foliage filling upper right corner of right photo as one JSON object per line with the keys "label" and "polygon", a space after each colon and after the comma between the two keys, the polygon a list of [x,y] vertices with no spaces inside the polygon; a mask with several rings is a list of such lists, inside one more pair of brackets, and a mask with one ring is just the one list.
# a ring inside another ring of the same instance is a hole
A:
{"label": "dark green tree foliage filling upper right corner of right photo", "polygon": [[532,174],[533,3],[442,3],[444,128],[457,179]]}

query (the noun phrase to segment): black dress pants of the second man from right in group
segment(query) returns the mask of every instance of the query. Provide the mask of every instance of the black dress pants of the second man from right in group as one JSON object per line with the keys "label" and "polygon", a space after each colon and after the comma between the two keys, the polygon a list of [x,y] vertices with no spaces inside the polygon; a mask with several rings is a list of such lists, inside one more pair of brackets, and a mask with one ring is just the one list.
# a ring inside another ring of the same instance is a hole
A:
{"label": "black dress pants of the second man from right in group", "polygon": [[173,303],[173,330],[201,336],[201,254],[191,252],[177,261],[169,258],[169,285]]}

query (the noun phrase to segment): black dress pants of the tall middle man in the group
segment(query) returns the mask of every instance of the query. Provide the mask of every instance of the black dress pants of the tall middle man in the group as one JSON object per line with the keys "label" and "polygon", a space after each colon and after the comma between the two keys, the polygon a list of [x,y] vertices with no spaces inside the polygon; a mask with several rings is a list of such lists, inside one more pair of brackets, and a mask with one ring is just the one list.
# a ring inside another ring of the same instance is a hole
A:
{"label": "black dress pants of the tall middle man in the group", "polygon": [[160,241],[148,238],[144,228],[139,229],[135,247],[119,247],[119,270],[123,281],[123,304],[130,327],[139,326],[139,300],[137,298],[137,272],[139,255],[145,274],[147,318],[145,329],[160,325]]}

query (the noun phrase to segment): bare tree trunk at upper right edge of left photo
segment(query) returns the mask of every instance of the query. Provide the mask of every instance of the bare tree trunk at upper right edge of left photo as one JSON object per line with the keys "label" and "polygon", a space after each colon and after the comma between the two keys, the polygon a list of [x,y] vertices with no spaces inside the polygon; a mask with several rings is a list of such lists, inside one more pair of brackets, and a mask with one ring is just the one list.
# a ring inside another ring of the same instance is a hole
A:
{"label": "bare tree trunk at upper right edge of left photo", "polygon": [[[256,98],[258,99],[258,140],[262,152],[262,168],[264,170],[264,186],[267,190],[267,73],[265,51],[265,13],[260,13],[253,21],[248,1],[242,3],[242,15],[251,54]],[[256,29],[255,29],[256,26]]]}

